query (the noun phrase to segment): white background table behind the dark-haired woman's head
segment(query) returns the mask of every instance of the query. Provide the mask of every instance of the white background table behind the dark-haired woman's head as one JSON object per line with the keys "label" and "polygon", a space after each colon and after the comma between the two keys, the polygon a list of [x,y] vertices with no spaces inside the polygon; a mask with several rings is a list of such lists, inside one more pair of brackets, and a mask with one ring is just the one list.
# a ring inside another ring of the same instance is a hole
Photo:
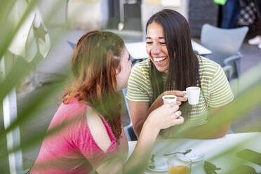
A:
{"label": "white background table behind the dark-haired woman's head", "polygon": [[[149,55],[147,55],[147,51],[146,51],[146,42],[145,41],[128,43],[128,44],[126,44],[126,47],[128,49],[128,52],[131,54],[131,56],[134,59],[149,58]],[[207,55],[207,54],[212,53],[210,50],[201,46],[200,44],[196,43],[195,41],[192,41],[192,48],[199,55]]]}

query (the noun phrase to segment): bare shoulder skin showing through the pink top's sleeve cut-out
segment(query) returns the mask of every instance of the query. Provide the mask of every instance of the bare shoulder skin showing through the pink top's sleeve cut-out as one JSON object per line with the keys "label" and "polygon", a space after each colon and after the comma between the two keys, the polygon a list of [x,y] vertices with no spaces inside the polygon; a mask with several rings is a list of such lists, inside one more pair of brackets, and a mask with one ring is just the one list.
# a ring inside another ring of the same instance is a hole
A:
{"label": "bare shoulder skin showing through the pink top's sleeve cut-out", "polygon": [[100,118],[100,116],[91,107],[87,108],[86,118],[91,135],[93,136],[96,144],[100,147],[100,149],[102,149],[103,152],[107,152],[107,149],[112,144],[112,141],[109,138],[102,118]]}

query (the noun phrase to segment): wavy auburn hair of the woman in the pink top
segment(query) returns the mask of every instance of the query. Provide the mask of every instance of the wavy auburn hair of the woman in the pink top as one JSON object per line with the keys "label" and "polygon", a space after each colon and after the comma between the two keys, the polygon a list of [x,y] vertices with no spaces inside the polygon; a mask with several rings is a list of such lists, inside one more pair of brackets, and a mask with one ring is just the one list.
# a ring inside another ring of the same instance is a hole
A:
{"label": "wavy auburn hair of the woman in the pink top", "polygon": [[121,138],[121,95],[116,88],[116,72],[124,42],[116,34],[92,31],[83,34],[72,56],[74,82],[62,101],[79,97],[97,110],[112,128],[116,140]]}

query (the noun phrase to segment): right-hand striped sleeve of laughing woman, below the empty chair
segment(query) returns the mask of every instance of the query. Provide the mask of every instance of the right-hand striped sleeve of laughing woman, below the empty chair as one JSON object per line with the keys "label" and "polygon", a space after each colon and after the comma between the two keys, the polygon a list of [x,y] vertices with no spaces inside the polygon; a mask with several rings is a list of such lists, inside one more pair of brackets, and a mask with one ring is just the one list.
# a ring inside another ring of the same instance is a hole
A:
{"label": "right-hand striped sleeve of laughing woman, below the empty chair", "polygon": [[210,82],[210,101],[208,105],[210,107],[221,107],[232,102],[234,95],[227,81],[225,72],[217,65],[216,72],[213,76],[213,80]]}

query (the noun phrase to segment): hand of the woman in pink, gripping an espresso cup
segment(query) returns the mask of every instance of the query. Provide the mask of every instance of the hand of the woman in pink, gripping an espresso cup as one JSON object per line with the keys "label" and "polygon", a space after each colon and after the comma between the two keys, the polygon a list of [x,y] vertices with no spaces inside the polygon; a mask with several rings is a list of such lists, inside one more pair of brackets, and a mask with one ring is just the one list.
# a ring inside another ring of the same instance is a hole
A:
{"label": "hand of the woman in pink, gripping an espresso cup", "polygon": [[179,106],[174,103],[162,105],[149,114],[145,123],[158,131],[181,124],[184,122],[184,118],[178,109]]}

